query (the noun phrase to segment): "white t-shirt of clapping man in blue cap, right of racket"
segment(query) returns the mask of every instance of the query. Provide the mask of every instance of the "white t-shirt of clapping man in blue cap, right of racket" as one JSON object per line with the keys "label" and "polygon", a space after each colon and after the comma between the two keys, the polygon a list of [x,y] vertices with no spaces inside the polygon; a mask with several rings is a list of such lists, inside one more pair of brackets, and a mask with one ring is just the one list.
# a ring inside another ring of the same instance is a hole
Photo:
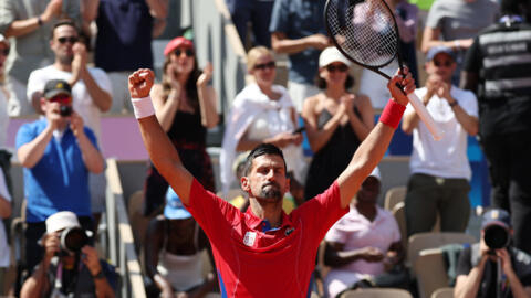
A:
{"label": "white t-shirt of clapping man in blue cap, right of racket", "polygon": [[[419,98],[426,93],[426,87],[415,91]],[[478,102],[473,93],[451,86],[450,95],[468,115],[478,117]],[[413,130],[413,153],[409,160],[412,173],[470,180],[472,173],[467,157],[468,134],[457,120],[448,100],[434,95],[426,109],[445,134],[441,140],[436,141],[426,125],[418,123]],[[410,113],[415,113],[415,109],[409,104],[405,114]]]}

